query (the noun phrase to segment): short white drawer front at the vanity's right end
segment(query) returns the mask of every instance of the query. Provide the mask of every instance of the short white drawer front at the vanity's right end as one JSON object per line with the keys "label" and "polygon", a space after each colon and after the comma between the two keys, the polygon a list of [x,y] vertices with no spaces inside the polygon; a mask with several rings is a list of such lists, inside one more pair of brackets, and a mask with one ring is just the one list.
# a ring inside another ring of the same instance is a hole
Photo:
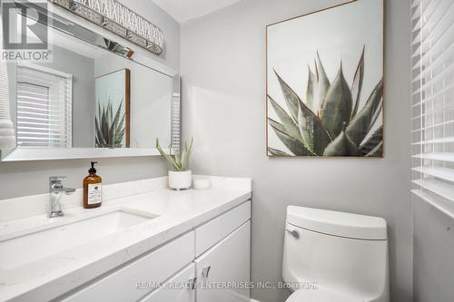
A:
{"label": "short white drawer front at the vanity's right end", "polygon": [[195,256],[202,255],[208,248],[224,239],[248,219],[251,219],[251,201],[245,202],[195,229]]}

